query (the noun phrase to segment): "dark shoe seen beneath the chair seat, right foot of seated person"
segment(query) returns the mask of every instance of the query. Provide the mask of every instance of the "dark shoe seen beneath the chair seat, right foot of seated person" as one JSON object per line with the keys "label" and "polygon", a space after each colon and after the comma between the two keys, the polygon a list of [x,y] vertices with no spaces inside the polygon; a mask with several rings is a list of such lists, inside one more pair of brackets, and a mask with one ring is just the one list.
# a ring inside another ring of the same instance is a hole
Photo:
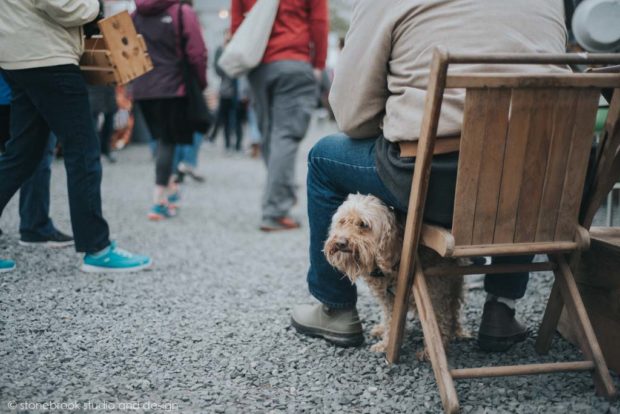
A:
{"label": "dark shoe seen beneath the chair seat, right foot of seated person", "polygon": [[505,352],[527,338],[528,330],[515,319],[515,311],[496,300],[484,304],[478,345],[487,352]]}

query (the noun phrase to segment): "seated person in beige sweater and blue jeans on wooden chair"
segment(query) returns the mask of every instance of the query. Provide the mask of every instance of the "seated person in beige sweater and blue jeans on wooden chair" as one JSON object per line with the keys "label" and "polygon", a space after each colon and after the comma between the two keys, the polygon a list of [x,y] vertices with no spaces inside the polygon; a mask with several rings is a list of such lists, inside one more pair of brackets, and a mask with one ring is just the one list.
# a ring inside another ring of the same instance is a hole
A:
{"label": "seated person in beige sweater and blue jeans on wooden chair", "polygon": [[[362,325],[355,286],[332,268],[322,249],[332,215],[349,193],[373,194],[406,211],[414,158],[401,158],[399,142],[419,136],[436,46],[455,53],[564,53],[562,0],[360,0],[330,94],[346,135],[326,137],[308,157],[310,293],[317,305],[293,310],[298,331],[340,345],[359,345]],[[563,71],[553,66],[459,65],[454,72]],[[458,136],[462,90],[444,94],[438,135]],[[458,144],[458,142],[457,142]],[[450,225],[458,146],[433,160],[425,218]],[[503,258],[499,262],[531,260]],[[498,261],[496,261],[497,263]],[[504,351],[526,338],[515,319],[528,274],[487,276],[479,344]]]}

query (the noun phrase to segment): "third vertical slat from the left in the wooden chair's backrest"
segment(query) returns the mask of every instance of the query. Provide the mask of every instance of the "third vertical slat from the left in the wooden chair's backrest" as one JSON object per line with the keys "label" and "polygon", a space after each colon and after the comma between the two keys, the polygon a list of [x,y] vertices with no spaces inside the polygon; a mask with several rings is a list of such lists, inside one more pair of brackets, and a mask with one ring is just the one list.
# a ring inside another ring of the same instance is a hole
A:
{"label": "third vertical slat from the left in the wooden chair's backrest", "polygon": [[494,243],[512,243],[514,241],[517,209],[525,173],[525,151],[530,134],[530,109],[532,105],[534,105],[534,96],[531,92],[513,91],[504,170],[493,236]]}

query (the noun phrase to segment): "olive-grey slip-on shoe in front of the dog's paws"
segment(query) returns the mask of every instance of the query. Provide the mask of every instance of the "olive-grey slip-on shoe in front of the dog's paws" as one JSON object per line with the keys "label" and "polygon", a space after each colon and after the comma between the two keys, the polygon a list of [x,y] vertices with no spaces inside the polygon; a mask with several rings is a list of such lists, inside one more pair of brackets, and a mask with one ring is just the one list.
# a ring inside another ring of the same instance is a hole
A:
{"label": "olive-grey slip-on shoe in front of the dog's paws", "polygon": [[359,346],[364,342],[362,322],[357,309],[329,309],[317,305],[299,305],[293,309],[291,325],[297,332],[325,339],[337,346]]}

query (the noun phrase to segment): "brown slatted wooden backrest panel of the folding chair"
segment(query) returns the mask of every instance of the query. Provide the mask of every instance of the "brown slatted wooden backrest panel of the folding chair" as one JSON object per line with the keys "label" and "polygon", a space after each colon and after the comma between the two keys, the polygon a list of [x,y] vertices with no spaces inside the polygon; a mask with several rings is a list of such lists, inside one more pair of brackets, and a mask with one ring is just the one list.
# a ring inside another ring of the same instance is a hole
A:
{"label": "brown slatted wooden backrest panel of the folding chair", "polygon": [[600,90],[496,86],[467,89],[455,243],[573,241]]}

